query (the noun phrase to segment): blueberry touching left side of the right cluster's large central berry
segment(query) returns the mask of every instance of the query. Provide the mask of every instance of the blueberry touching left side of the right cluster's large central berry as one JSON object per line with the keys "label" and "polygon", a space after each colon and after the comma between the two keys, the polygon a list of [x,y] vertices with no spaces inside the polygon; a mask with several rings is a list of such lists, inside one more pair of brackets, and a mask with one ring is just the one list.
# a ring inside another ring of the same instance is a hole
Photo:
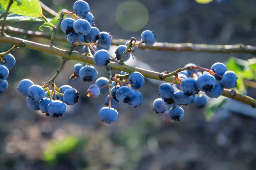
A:
{"label": "blueberry touching left side of the right cluster's large central berry", "polygon": [[196,80],[193,78],[187,78],[181,81],[180,89],[188,96],[198,93],[198,89],[196,88]]}

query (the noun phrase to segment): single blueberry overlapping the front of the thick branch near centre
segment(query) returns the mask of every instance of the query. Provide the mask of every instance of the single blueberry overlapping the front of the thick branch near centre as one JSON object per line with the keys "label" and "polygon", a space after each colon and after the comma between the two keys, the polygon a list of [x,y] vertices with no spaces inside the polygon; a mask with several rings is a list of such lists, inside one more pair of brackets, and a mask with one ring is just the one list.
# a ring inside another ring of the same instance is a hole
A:
{"label": "single blueberry overlapping the front of the thick branch near centre", "polygon": [[107,66],[110,62],[110,54],[107,50],[99,50],[94,54],[93,61],[97,66]]}

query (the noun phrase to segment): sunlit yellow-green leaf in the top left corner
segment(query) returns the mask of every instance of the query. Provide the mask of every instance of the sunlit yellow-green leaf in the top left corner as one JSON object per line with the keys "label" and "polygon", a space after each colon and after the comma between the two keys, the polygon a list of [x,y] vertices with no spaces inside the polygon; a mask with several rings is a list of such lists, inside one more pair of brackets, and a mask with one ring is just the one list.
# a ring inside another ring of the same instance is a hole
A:
{"label": "sunlit yellow-green leaf in the top left corner", "polygon": [[[19,0],[20,2],[14,1],[10,12],[15,14],[27,16],[27,17],[41,17],[43,15],[42,8],[38,2],[38,0]],[[7,8],[9,1],[7,0],[0,0],[0,4]]]}

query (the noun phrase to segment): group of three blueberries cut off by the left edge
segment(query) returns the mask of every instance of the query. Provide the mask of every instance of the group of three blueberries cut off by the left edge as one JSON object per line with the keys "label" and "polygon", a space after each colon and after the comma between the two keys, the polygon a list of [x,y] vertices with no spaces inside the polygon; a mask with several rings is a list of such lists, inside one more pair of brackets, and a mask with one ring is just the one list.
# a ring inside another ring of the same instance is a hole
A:
{"label": "group of three blueberries cut off by the left edge", "polygon": [[16,60],[13,55],[9,53],[2,58],[0,57],[0,61],[0,93],[2,93],[8,89],[8,82],[6,79],[9,75],[9,70],[14,67]]}

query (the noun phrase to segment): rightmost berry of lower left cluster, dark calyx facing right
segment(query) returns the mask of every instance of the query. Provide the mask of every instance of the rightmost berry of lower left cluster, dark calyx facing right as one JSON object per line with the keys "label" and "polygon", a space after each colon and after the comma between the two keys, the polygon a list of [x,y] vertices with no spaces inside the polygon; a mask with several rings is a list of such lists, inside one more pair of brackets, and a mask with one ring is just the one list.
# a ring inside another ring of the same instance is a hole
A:
{"label": "rightmost berry of lower left cluster, dark calyx facing right", "polygon": [[63,102],[67,105],[74,105],[79,102],[79,93],[76,89],[67,89],[63,93]]}

